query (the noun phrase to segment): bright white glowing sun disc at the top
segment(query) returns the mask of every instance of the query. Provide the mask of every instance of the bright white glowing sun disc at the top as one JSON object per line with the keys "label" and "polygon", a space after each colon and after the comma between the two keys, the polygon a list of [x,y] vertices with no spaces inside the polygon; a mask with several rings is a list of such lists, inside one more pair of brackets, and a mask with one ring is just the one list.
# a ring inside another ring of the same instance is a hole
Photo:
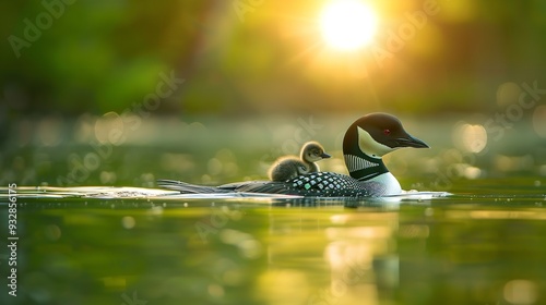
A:
{"label": "bright white glowing sun disc at the top", "polygon": [[320,16],[325,42],[337,50],[353,51],[370,44],[377,27],[376,13],[358,0],[334,0]]}

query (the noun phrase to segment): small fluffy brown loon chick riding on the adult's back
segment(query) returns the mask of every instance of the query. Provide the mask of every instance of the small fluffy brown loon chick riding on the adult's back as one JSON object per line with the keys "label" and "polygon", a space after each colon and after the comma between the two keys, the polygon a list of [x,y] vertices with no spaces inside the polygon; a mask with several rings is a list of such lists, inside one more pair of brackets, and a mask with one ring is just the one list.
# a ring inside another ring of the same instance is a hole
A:
{"label": "small fluffy brown loon chick riding on the adult's back", "polygon": [[271,181],[287,181],[301,174],[318,172],[317,161],[330,158],[324,148],[317,142],[308,142],[301,147],[299,158],[296,156],[281,157],[269,170]]}

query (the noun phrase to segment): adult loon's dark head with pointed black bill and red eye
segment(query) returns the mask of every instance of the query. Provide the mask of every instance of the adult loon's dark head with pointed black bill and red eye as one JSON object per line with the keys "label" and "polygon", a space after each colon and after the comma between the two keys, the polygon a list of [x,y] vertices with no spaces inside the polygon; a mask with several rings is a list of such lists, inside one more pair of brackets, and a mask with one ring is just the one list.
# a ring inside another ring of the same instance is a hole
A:
{"label": "adult loon's dark head with pointed black bill and red eye", "polygon": [[343,138],[343,154],[380,158],[402,147],[428,148],[410,135],[400,120],[388,113],[370,113],[356,120]]}

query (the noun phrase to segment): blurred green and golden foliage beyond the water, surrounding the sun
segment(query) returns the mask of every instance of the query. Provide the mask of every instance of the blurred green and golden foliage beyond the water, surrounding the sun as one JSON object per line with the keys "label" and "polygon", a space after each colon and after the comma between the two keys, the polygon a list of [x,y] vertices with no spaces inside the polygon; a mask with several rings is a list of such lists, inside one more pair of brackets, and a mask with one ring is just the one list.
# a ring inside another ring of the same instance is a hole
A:
{"label": "blurred green and golden foliage beyond the water, surrounding the sun", "polygon": [[[158,114],[483,111],[505,82],[546,83],[546,5],[536,0],[432,1],[439,12],[396,50],[390,33],[431,1],[370,2],[379,32],[352,54],[322,42],[325,1],[64,1],[1,4],[11,119],[123,111],[170,71],[186,83]],[[391,56],[378,61],[378,48]]]}

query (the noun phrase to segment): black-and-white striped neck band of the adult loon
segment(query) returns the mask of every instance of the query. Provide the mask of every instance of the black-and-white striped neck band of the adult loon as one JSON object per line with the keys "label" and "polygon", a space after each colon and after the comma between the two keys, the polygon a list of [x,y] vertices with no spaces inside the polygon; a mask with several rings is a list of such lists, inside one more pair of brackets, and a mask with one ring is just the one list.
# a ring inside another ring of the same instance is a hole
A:
{"label": "black-and-white striped neck band of the adult loon", "polygon": [[356,180],[368,181],[389,172],[381,158],[373,158],[364,152],[358,156],[346,154],[344,157],[351,176]]}

